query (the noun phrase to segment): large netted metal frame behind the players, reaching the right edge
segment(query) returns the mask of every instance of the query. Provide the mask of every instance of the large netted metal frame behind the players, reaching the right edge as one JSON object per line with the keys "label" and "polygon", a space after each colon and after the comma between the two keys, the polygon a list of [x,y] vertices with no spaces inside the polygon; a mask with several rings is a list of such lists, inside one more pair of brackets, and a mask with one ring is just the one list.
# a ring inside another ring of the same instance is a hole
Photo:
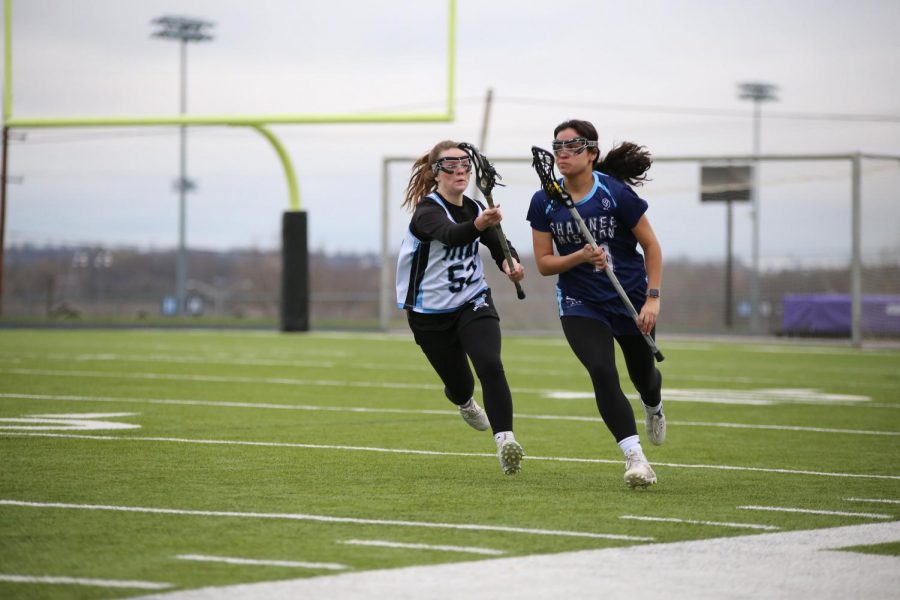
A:
{"label": "large netted metal frame behind the players, reaching the right edge", "polygon": [[[495,188],[494,201],[527,271],[527,298],[518,300],[502,273],[486,269],[504,330],[556,331],[556,278],[537,273],[525,221],[539,187],[531,159],[492,161],[505,184]],[[389,157],[383,165],[379,323],[385,330],[405,327],[395,308],[394,269],[409,223],[399,206],[412,162]],[[758,169],[756,260],[754,202],[732,202],[729,210],[726,202],[701,201],[701,166],[723,164]],[[663,249],[661,334],[900,338],[900,157],[655,157],[649,176],[636,191],[650,203],[647,216]]]}

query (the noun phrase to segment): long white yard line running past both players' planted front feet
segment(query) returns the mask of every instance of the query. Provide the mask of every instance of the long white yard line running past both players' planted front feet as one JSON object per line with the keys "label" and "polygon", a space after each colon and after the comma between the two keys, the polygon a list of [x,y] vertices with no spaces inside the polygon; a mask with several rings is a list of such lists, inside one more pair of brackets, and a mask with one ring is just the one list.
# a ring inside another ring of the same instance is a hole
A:
{"label": "long white yard line running past both players' planted front feet", "polygon": [[[86,435],[86,434],[66,434],[66,433],[31,433],[19,431],[0,431],[0,437],[51,437],[51,438],[68,438],[76,440],[98,440],[98,441],[128,441],[128,442],[166,442],[174,444],[208,444],[208,445],[224,445],[224,446],[258,446],[264,448],[306,448],[310,450],[346,450],[352,452],[382,452],[388,454],[414,454],[420,456],[463,456],[470,458],[490,457],[496,459],[493,453],[484,452],[447,452],[438,450],[415,450],[409,448],[378,448],[372,446],[342,446],[338,444],[300,444],[288,442],[248,442],[241,440],[202,440],[202,439],[186,439],[186,438],[168,438],[168,437],[126,437],[114,435]],[[611,464],[621,465],[622,460],[611,460],[605,458],[570,458],[563,456],[534,456],[527,455],[526,460],[545,460],[553,462],[572,462],[572,463],[588,463],[588,464]],[[892,479],[900,480],[900,475],[872,475],[868,473],[836,473],[829,471],[804,471],[801,469],[777,469],[766,467],[743,467],[735,465],[703,465],[703,464],[683,464],[683,463],[666,463],[654,462],[654,466],[672,467],[675,469],[711,469],[714,471],[750,471],[756,473],[781,473],[785,475],[810,475],[815,477],[848,477],[856,479]]]}

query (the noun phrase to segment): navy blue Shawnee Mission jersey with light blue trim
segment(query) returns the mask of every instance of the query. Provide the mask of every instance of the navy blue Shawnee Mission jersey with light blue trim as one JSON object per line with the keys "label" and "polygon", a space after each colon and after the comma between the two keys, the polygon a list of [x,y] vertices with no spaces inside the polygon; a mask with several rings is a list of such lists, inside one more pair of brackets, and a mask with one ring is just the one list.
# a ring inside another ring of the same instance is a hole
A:
{"label": "navy blue Shawnee Mission jersey with light blue trim", "polygon": [[[563,183],[562,179],[559,181]],[[647,211],[647,202],[618,179],[595,171],[594,187],[587,196],[576,200],[575,206],[597,245],[606,248],[609,264],[632,303],[635,307],[643,306],[647,270],[631,230]],[[532,196],[527,218],[533,229],[553,234],[553,243],[560,256],[577,252],[588,243],[569,210],[562,204],[550,202],[543,190]],[[603,304],[604,310],[609,312],[629,314],[609,278],[590,263],[560,273],[556,287],[563,296]]]}

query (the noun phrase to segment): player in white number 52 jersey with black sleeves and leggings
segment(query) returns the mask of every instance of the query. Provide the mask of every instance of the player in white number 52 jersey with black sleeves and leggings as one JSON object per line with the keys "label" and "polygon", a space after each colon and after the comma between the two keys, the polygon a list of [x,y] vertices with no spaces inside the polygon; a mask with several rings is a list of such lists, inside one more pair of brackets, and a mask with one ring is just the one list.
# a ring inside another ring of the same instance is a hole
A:
{"label": "player in white number 52 jersey with black sleeves and leggings", "polygon": [[[505,262],[494,225],[500,208],[465,196],[472,172],[469,155],[452,141],[438,143],[412,167],[403,207],[412,219],[397,261],[397,306],[444,384],[444,394],[479,431],[494,433],[500,467],[518,473],[524,451],[512,431],[512,394],[500,360],[500,317],[484,278],[479,243],[512,281],[525,276],[510,245]],[[484,410],[472,393],[481,382]],[[486,411],[486,412],[485,412]]]}

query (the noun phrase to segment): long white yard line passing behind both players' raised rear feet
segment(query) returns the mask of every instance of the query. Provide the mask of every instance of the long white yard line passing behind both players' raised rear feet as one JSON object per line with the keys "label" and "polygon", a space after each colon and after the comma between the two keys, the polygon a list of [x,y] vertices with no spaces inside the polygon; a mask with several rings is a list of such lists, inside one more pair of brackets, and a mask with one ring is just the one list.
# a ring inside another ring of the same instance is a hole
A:
{"label": "long white yard line passing behind both players' raised rear feet", "polygon": [[[107,396],[73,396],[60,394],[15,394],[0,393],[0,398],[20,398],[23,400],[53,400],[61,402],[105,402],[120,404],[157,404],[174,406],[208,406],[212,408],[249,408],[260,410],[300,410],[322,412],[374,413],[374,414],[409,414],[409,415],[442,415],[458,418],[455,410],[440,409],[405,409],[405,408],[370,408],[364,406],[315,406],[307,404],[274,404],[266,402],[229,402],[216,400],[178,400],[161,398],[121,398]],[[577,415],[532,415],[516,413],[517,419],[533,419],[538,421],[571,421],[584,423],[602,423],[600,417],[584,417]],[[748,423],[717,423],[707,421],[669,421],[674,427],[723,427],[733,429],[761,429],[771,431],[803,431],[810,433],[837,433],[849,435],[900,436],[898,431],[873,431],[863,429],[840,429],[826,427],[804,427],[797,425],[765,425]]]}

